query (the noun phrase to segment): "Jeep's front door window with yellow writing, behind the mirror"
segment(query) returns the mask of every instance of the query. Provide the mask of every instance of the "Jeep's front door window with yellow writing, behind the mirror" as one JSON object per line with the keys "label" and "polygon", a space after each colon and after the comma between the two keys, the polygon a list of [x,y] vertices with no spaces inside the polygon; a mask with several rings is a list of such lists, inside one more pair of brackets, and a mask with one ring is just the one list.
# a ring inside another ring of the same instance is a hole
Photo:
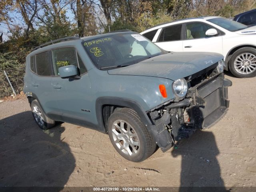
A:
{"label": "Jeep's front door window with yellow writing, behind the mirror", "polygon": [[75,48],[64,47],[52,50],[52,62],[54,65],[55,75],[60,75],[60,67],[68,65],[74,65],[78,67]]}

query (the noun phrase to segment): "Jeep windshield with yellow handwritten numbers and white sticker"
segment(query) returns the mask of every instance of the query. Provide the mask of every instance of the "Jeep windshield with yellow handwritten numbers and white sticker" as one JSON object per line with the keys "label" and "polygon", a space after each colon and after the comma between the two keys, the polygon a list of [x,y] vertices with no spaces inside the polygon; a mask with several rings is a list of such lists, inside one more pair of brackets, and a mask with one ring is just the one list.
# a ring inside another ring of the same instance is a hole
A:
{"label": "Jeep windshield with yellow handwritten numbers and white sticker", "polygon": [[83,41],[86,52],[99,69],[128,66],[167,53],[140,34],[109,34]]}

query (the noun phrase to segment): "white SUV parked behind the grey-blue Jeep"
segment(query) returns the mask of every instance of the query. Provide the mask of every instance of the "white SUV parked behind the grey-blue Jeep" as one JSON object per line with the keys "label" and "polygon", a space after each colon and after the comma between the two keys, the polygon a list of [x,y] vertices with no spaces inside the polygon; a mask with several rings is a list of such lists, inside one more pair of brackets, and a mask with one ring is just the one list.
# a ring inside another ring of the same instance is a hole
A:
{"label": "white SUV parked behind the grey-blue Jeep", "polygon": [[140,34],[167,51],[220,53],[234,76],[256,76],[256,26],[211,16],[160,24]]}

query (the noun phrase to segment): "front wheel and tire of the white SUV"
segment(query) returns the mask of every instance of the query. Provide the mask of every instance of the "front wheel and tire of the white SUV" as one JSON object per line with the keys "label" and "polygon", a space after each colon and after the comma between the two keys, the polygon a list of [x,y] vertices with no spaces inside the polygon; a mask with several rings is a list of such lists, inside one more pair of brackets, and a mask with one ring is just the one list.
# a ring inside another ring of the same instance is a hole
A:
{"label": "front wheel and tire of the white SUV", "polygon": [[238,78],[256,76],[256,49],[243,47],[236,50],[229,61],[230,72]]}

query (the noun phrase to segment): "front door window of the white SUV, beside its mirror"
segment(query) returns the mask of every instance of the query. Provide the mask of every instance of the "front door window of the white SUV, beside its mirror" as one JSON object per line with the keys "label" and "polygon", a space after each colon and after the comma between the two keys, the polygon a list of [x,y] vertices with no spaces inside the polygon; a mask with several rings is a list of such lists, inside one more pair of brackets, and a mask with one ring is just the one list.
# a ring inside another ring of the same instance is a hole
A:
{"label": "front door window of the white SUV, beside its mirror", "polygon": [[186,24],[186,38],[187,39],[196,39],[196,38],[205,38],[205,32],[212,27],[202,24],[202,23],[190,23]]}

